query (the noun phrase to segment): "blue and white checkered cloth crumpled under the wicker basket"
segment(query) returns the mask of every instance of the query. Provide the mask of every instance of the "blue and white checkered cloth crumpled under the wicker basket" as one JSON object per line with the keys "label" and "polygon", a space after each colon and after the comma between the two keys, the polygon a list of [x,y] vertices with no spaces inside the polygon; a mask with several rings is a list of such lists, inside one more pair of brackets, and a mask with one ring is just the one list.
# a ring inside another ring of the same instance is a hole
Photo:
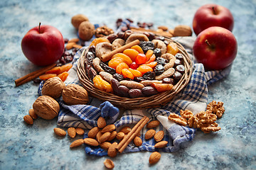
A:
{"label": "blue and white checkered cloth crumpled under the wicker basket", "polygon": [[[97,118],[100,116],[107,120],[107,124],[116,125],[117,131],[123,126],[133,126],[137,123],[144,115],[146,115],[150,120],[159,120],[160,125],[154,128],[156,132],[159,130],[164,130],[164,139],[169,142],[169,144],[161,149],[154,148],[156,142],[152,138],[151,140],[145,140],[146,127],[140,132],[143,141],[142,146],[136,147],[133,142],[131,142],[123,153],[126,152],[140,152],[140,151],[160,151],[160,152],[175,152],[177,151],[183,142],[188,142],[193,140],[196,134],[196,129],[188,128],[168,120],[168,115],[170,113],[177,113],[179,111],[188,109],[196,114],[200,111],[206,110],[206,104],[208,103],[208,85],[213,84],[215,81],[223,79],[223,77],[228,76],[230,73],[231,66],[220,71],[209,71],[206,72],[203,64],[198,64],[195,62],[192,55],[192,47],[195,38],[192,37],[182,37],[175,38],[177,42],[180,42],[183,47],[185,47],[188,55],[191,57],[193,63],[193,74],[191,76],[191,81],[188,85],[176,95],[176,97],[166,106],[161,108],[149,108],[144,110],[127,110],[119,114],[119,109],[112,106],[108,101],[99,101],[96,98],[90,98],[87,105],[75,105],[68,106],[63,103],[62,98],[58,99],[60,103],[60,113],[58,115],[58,125],[61,127],[79,127],[85,129],[84,137],[87,137],[87,132],[97,125]],[[68,79],[65,84],[80,84],[78,75],[76,73],[78,58],[80,57],[83,47],[74,57],[73,67],[70,69]],[[80,84],[81,85],[81,84]],[[41,95],[41,88],[43,86],[43,81],[38,89],[38,94]],[[85,152],[87,154],[104,156],[107,155],[107,151],[101,149],[100,147],[90,147],[85,145]]]}

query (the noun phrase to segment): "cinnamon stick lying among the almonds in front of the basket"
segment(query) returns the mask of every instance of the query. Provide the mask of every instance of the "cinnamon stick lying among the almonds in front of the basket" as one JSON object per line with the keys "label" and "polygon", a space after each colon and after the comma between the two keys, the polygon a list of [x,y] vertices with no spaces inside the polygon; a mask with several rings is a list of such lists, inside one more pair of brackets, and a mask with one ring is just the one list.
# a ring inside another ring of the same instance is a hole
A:
{"label": "cinnamon stick lying among the almonds in front of the basket", "polygon": [[139,131],[142,130],[142,128],[146,125],[146,123],[149,122],[149,118],[144,116],[139,122],[132,128],[132,130],[127,134],[127,136],[124,137],[124,139],[119,142],[117,145],[117,150],[122,153],[124,149],[129,145],[129,142],[131,142],[134,137],[136,137],[139,134]]}

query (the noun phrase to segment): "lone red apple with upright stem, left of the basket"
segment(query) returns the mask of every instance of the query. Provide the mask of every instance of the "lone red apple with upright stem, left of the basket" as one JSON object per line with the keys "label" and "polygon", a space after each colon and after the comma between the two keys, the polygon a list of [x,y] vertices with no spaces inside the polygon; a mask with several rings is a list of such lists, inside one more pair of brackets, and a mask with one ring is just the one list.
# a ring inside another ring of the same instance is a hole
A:
{"label": "lone red apple with upright stem, left of the basket", "polygon": [[64,52],[63,35],[53,26],[36,26],[21,40],[23,54],[33,64],[46,66],[60,59]]}

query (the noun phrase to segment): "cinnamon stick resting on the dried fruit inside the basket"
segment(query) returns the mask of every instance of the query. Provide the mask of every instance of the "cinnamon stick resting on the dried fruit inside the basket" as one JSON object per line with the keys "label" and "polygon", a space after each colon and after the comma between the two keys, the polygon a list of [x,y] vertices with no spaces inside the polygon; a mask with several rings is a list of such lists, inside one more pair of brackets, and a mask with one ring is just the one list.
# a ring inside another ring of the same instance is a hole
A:
{"label": "cinnamon stick resting on the dried fruit inside the basket", "polygon": [[129,42],[126,45],[123,45],[122,47],[117,48],[116,50],[113,50],[112,52],[109,52],[105,55],[102,55],[100,57],[100,60],[102,60],[102,62],[107,62],[108,60],[111,59],[111,57],[119,52],[123,52],[124,50],[134,46],[134,45],[139,45],[139,40],[134,40],[132,42]]}

